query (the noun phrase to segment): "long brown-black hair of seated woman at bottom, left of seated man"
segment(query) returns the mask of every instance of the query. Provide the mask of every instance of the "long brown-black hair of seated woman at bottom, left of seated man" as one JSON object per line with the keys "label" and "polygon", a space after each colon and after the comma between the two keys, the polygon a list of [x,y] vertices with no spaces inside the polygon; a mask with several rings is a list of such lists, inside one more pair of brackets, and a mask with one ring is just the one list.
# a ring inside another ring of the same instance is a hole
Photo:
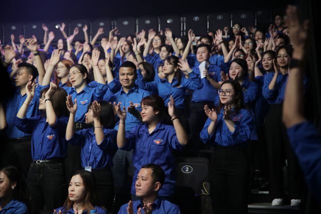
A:
{"label": "long brown-black hair of seated woman at bottom, left of seated man", "polygon": [[[95,206],[95,179],[91,172],[85,171],[85,170],[79,170],[77,171],[73,176],[79,174],[82,178],[82,182],[85,186],[86,195],[84,199],[84,210],[87,211],[87,213],[90,213],[91,209],[94,209]],[[67,199],[64,203],[64,213],[67,212],[69,209],[73,208],[74,202],[69,199],[69,196],[67,196]]]}

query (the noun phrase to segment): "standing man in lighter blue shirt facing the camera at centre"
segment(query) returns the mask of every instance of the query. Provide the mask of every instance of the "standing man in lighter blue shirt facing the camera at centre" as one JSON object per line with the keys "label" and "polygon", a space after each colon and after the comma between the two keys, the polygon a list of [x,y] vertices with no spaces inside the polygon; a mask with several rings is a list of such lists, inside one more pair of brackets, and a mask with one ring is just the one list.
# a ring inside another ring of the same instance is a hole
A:
{"label": "standing man in lighter blue shirt facing the camera at centre", "polygon": [[[150,95],[150,92],[140,89],[136,84],[137,78],[136,65],[130,61],[126,61],[121,64],[119,68],[119,82],[121,84],[121,90],[115,93],[108,100],[111,103],[120,103],[121,108],[128,110],[126,120],[126,131],[130,131],[134,127],[141,124],[141,106],[140,102],[144,97]],[[115,129],[118,129],[119,121],[117,121]],[[115,195],[119,195],[122,189],[126,186],[127,180],[127,167],[130,171],[132,167],[132,151],[117,150],[113,158],[114,166],[112,167],[112,173],[114,176]]]}

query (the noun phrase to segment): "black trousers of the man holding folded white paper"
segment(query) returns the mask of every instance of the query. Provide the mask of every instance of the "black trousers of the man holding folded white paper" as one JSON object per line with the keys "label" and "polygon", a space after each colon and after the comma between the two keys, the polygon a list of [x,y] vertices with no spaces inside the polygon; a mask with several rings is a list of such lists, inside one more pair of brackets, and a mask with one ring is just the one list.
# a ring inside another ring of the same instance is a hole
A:
{"label": "black trousers of the man holding folded white paper", "polygon": [[210,109],[214,108],[214,102],[191,102],[190,104],[190,140],[188,147],[191,149],[204,148],[205,145],[200,138],[200,133],[207,120],[207,116],[204,112],[204,105],[208,105]]}

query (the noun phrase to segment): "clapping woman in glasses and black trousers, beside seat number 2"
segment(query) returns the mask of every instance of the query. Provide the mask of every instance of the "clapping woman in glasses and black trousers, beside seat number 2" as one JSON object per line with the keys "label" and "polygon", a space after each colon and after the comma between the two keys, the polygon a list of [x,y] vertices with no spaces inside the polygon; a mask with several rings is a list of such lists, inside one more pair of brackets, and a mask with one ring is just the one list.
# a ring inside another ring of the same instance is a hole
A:
{"label": "clapping woman in glasses and black trousers, beside seat number 2", "polygon": [[249,164],[246,148],[254,117],[245,108],[243,91],[235,80],[222,83],[217,109],[204,107],[209,117],[200,133],[214,146],[210,162],[212,207],[215,213],[247,213]]}

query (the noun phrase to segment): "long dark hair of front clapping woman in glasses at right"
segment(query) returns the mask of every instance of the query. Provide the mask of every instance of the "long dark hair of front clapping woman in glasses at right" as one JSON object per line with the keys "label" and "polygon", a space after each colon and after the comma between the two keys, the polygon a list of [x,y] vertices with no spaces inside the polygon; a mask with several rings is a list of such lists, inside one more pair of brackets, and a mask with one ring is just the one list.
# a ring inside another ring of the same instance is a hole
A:
{"label": "long dark hair of front clapping woman in glasses at right", "polygon": [[[232,87],[233,87],[233,90],[234,90],[234,97],[235,97],[235,100],[234,100],[234,106],[235,107],[234,107],[234,109],[235,109],[235,112],[239,112],[240,109],[246,108],[245,105],[244,105],[243,90],[242,90],[242,87],[239,84],[239,82],[236,81],[236,80],[227,80],[227,81],[222,83],[221,87],[224,84],[227,84],[227,83],[231,84]],[[224,108],[224,104],[222,104],[221,100],[220,100],[220,104],[217,107],[217,112],[220,112],[222,108]]]}

